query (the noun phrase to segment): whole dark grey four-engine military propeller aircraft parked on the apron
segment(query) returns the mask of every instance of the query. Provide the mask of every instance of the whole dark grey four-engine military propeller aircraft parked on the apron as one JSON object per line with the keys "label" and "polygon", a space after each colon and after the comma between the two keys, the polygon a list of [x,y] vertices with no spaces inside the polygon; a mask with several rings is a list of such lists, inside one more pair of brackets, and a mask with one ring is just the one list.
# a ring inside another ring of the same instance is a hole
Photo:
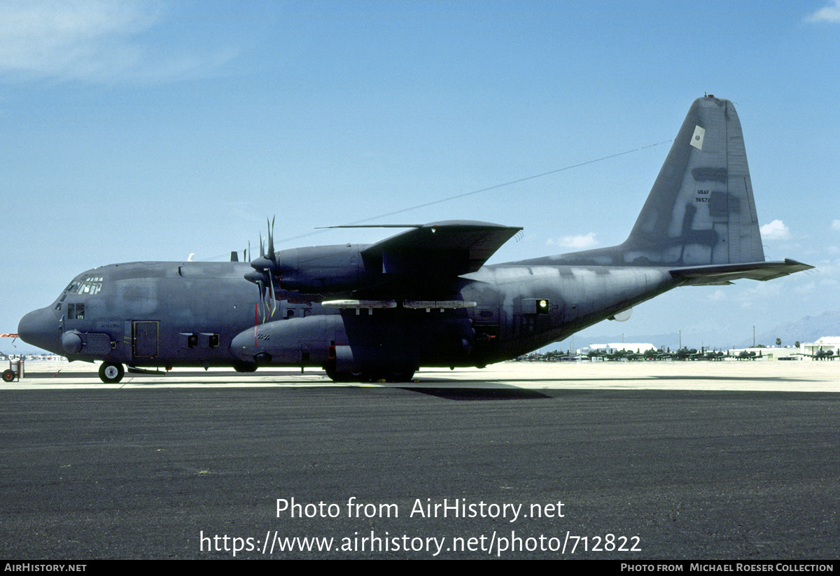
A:
{"label": "whole dark grey four-engine military propeller aircraft parked on the apron", "polygon": [[[394,227],[397,228],[397,227]],[[617,246],[485,265],[522,228],[449,221],[373,244],[275,251],[250,263],[134,262],[76,276],[29,312],[24,342],[129,367],[323,368],[336,381],[408,381],[421,366],[513,359],[677,286],[771,280],[732,102],[691,106],[633,231]],[[257,285],[257,290],[254,290]]]}

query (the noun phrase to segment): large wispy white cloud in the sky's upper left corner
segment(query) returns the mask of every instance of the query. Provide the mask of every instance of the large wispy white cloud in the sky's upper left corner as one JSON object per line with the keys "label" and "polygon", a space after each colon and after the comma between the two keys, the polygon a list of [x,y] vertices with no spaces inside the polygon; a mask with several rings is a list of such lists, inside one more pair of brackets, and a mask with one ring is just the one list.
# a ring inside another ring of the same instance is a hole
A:
{"label": "large wispy white cloud in the sky's upper left corner", "polygon": [[[155,2],[12,0],[0,3],[0,75],[83,81],[160,81],[218,65],[230,54],[172,54],[151,39]],[[166,40],[174,40],[170,35]],[[182,51],[181,51],[182,52]]]}

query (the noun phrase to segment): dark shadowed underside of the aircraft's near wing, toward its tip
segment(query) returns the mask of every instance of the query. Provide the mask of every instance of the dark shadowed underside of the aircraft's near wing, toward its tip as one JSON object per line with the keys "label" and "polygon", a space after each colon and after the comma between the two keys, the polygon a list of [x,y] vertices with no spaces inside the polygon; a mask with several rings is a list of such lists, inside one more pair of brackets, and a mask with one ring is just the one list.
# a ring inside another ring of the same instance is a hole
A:
{"label": "dark shadowed underside of the aircraft's near wing, toward its tip", "polygon": [[362,249],[385,274],[458,276],[480,269],[521,227],[469,220],[423,224]]}

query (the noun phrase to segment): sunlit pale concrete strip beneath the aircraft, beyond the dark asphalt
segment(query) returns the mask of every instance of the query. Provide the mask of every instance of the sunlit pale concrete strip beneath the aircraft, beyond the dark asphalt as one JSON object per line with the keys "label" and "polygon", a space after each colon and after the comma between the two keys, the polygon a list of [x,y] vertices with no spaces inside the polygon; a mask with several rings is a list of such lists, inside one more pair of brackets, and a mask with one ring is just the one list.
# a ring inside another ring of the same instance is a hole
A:
{"label": "sunlit pale concrete strip beneath the aircraft, beyond the dark asphalt", "polygon": [[[174,369],[168,374],[130,374],[116,385],[97,378],[97,365],[81,362],[29,362],[26,377],[0,390],[97,389],[149,387],[337,386],[323,370],[260,369],[239,374],[233,369]],[[840,361],[664,361],[664,362],[504,362],[485,369],[423,369],[414,386],[567,390],[763,390],[840,392]],[[371,384],[368,384],[371,385]],[[376,384],[372,384],[376,385]],[[382,384],[404,388],[406,385]]]}

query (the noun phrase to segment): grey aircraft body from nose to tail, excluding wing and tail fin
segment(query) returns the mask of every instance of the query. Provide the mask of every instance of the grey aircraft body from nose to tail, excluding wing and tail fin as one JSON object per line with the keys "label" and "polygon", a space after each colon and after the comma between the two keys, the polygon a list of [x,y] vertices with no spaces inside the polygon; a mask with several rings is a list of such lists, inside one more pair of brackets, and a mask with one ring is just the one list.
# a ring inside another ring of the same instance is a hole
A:
{"label": "grey aircraft body from nose to tail, excluding wing and tail fin", "polygon": [[538,262],[461,276],[449,301],[465,307],[395,301],[376,309],[261,298],[244,279],[248,263],[111,264],[76,276],[52,305],[24,317],[18,333],[71,360],[137,367],[483,366],[567,338],[677,284],[662,268]]}

